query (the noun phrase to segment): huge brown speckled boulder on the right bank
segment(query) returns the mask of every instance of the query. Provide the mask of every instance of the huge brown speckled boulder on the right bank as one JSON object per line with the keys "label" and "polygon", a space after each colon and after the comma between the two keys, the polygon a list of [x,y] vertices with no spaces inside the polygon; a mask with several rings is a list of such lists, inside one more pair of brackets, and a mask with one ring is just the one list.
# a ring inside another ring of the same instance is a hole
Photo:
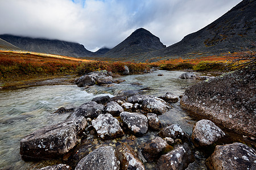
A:
{"label": "huge brown speckled boulder on the right bank", "polygon": [[187,88],[180,106],[242,135],[256,137],[256,74],[247,67]]}

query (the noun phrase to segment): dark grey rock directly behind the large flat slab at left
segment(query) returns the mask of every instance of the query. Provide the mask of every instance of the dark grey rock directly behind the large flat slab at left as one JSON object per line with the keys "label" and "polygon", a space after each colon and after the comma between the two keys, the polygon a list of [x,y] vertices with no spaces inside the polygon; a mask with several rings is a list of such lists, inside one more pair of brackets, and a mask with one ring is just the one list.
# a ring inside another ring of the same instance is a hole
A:
{"label": "dark grey rock directly behind the large flat slab at left", "polygon": [[104,113],[104,109],[105,109],[104,105],[97,104],[94,101],[89,101],[82,104],[79,108],[77,108],[73,114],[76,117],[84,116],[86,118],[87,117],[94,118]]}

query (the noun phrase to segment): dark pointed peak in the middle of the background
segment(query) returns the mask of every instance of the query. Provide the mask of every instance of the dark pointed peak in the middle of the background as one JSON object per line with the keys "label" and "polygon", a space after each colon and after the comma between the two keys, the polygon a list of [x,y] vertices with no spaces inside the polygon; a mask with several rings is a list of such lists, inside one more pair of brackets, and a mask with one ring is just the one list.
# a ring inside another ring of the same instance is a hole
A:
{"label": "dark pointed peak in the middle of the background", "polygon": [[104,57],[126,57],[166,48],[160,39],[144,28],[139,28],[120,44],[109,50]]}

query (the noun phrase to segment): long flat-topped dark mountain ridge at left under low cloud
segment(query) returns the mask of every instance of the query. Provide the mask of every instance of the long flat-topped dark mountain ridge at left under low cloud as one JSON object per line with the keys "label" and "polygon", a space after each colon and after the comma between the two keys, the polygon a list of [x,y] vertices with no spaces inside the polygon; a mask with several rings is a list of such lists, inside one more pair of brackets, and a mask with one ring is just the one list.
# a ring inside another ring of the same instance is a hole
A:
{"label": "long flat-topped dark mountain ridge at left under low cloud", "polygon": [[20,49],[28,50],[31,52],[57,54],[61,56],[70,57],[87,57],[93,56],[94,53],[84,48],[84,45],[48,39],[33,39],[31,37],[22,37],[14,35],[0,35],[0,38],[10,42]]}

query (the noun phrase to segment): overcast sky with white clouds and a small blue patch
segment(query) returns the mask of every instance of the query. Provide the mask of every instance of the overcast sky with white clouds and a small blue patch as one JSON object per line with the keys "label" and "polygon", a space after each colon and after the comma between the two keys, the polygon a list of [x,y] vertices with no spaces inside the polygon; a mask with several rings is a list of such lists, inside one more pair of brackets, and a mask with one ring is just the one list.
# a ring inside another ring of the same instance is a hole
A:
{"label": "overcast sky with white clouds and a small blue patch", "polygon": [[0,34],[113,48],[138,28],[169,46],[241,0],[0,0]]}

